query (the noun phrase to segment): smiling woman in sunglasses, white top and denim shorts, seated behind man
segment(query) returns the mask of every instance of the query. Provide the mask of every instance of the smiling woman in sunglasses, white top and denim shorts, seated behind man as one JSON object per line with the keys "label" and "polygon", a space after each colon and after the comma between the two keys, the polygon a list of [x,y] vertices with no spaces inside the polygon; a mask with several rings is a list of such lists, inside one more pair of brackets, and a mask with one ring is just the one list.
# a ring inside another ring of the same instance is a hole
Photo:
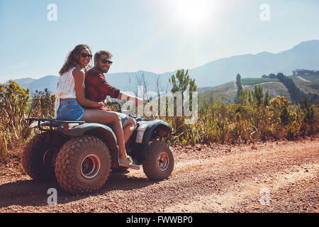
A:
{"label": "smiling woman in sunglasses, white top and denim shorts, seated behind man", "polygon": [[64,121],[111,124],[118,139],[119,165],[139,170],[140,167],[126,154],[121,116],[114,112],[82,107],[103,107],[103,102],[91,101],[84,95],[85,71],[89,68],[91,58],[91,50],[88,45],[77,45],[69,52],[65,65],[59,72],[55,116],[58,120]]}

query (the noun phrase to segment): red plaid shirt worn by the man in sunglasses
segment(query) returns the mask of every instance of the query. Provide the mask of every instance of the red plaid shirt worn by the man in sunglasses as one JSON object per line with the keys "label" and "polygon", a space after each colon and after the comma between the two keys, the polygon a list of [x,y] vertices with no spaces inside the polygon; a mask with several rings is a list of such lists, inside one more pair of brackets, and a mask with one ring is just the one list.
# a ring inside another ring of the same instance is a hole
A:
{"label": "red plaid shirt worn by the man in sunglasses", "polygon": [[[96,69],[91,69],[85,74],[85,97],[92,101],[100,102],[106,99],[106,96],[117,98],[120,90],[111,86],[106,82],[103,72]],[[103,109],[103,108],[89,108],[89,109]],[[104,108],[105,110],[105,108]]]}

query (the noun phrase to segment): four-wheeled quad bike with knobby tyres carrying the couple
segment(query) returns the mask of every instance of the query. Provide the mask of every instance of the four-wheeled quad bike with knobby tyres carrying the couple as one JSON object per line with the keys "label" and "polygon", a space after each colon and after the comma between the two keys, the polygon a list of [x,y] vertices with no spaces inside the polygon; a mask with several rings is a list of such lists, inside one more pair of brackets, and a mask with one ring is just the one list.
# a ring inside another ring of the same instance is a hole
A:
{"label": "four-wheeled quad bike with knobby tyres carrying the couple", "polygon": [[[117,105],[121,112],[121,104],[109,104]],[[161,120],[133,118],[137,126],[125,145],[128,155],[142,165],[149,179],[166,179],[172,174],[174,157],[160,138],[169,138],[172,126]],[[23,150],[23,168],[37,181],[57,179],[71,194],[89,193],[103,187],[111,170],[125,168],[118,165],[117,139],[110,126],[49,118],[27,120],[29,128],[42,131]]]}

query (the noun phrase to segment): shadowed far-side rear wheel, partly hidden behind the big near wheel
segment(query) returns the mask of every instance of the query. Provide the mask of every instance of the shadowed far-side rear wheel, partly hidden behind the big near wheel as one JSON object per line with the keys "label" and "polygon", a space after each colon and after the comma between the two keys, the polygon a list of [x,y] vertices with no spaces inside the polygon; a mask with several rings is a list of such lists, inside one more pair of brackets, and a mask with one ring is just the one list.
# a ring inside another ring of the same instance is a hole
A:
{"label": "shadowed far-side rear wheel, partly hidden behind the big near wheel", "polygon": [[23,150],[22,165],[31,178],[38,182],[55,179],[55,158],[63,140],[57,133],[40,133],[30,140]]}

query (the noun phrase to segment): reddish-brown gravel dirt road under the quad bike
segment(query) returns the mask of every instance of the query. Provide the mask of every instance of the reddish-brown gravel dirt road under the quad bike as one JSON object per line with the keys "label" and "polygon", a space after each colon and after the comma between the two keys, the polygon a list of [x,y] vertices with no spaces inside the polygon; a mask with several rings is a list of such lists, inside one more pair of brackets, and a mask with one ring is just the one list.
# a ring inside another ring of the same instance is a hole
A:
{"label": "reddish-brown gravel dirt road under the quad bike", "polygon": [[[162,182],[142,170],[113,174],[89,195],[70,196],[56,182],[0,176],[0,212],[318,212],[319,138],[254,145],[174,148]],[[47,205],[57,189],[57,204]]]}

